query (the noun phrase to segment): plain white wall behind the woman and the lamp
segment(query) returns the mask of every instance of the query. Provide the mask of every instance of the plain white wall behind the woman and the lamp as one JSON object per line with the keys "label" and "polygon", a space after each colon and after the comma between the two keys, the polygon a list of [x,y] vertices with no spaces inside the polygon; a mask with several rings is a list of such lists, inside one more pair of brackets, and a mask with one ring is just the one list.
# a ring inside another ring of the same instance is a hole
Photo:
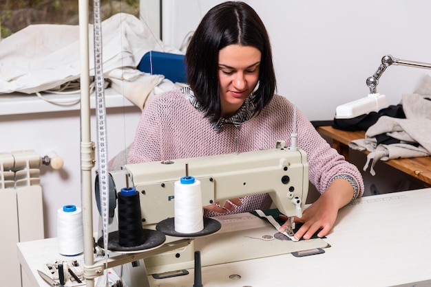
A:
{"label": "plain white wall behind the woman and the lamp", "polygon": [[[179,48],[220,0],[163,0],[163,41]],[[368,94],[366,78],[381,58],[431,62],[428,0],[245,0],[271,37],[278,93],[309,119],[333,119],[335,108]],[[392,66],[377,91],[389,104],[412,93],[426,69]]]}

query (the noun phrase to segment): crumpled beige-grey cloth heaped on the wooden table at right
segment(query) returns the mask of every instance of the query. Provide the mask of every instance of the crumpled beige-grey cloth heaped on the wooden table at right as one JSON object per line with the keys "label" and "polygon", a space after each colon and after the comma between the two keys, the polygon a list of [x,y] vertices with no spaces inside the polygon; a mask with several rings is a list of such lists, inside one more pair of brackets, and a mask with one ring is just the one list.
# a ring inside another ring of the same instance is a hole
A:
{"label": "crumpled beige-grey cloth heaped on the wooden table at right", "polygon": [[[428,157],[431,155],[431,77],[425,76],[418,89],[402,96],[406,119],[382,116],[366,131],[365,139],[350,141],[355,150],[368,150],[364,170],[371,163],[370,173],[375,175],[374,166],[379,159],[401,159],[407,157]],[[388,135],[398,143],[377,144],[377,135]]]}

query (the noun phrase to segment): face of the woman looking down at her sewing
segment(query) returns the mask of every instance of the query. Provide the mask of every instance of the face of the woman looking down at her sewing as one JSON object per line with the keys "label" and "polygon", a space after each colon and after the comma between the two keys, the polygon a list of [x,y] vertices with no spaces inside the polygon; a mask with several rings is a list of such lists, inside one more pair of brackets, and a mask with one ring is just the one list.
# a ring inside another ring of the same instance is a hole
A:
{"label": "face of the woman looking down at her sewing", "polygon": [[222,117],[234,115],[256,87],[261,56],[252,46],[229,45],[218,52]]}

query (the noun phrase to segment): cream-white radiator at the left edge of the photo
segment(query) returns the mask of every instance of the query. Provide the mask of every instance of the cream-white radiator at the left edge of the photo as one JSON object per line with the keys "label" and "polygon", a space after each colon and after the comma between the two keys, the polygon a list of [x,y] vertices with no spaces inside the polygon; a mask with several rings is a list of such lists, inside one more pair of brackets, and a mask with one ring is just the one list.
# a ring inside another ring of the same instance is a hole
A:
{"label": "cream-white radiator at the left edge of the photo", "polygon": [[33,150],[0,152],[1,286],[30,287],[17,242],[43,239],[41,157]]}

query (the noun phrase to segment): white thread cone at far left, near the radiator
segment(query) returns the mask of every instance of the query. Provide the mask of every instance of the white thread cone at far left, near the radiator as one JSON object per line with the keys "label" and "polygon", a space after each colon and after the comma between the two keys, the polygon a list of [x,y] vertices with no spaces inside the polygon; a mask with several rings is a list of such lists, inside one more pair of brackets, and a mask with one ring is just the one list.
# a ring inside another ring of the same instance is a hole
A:
{"label": "white thread cone at far left, near the radiator", "polygon": [[61,255],[73,256],[83,253],[81,208],[65,205],[57,210],[57,238]]}

